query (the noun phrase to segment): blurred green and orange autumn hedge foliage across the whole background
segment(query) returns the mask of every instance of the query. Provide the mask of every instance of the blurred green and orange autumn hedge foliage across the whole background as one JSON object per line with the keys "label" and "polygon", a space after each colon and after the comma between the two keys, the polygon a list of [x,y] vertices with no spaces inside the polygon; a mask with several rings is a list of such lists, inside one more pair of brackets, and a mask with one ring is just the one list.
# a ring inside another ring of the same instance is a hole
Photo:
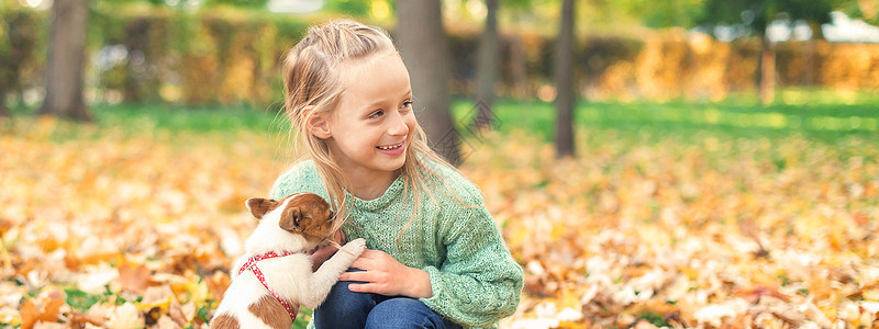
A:
{"label": "blurred green and orange autumn hedge foliage across the whole background", "polygon": [[[471,95],[486,8],[476,0],[443,2],[452,92]],[[828,18],[814,16],[831,9],[876,23],[879,5],[874,0],[819,2],[582,1],[577,8],[577,93],[598,101],[720,101],[754,91],[764,35],[756,31],[774,19],[790,26],[808,22],[814,31],[806,39],[777,43],[779,87],[879,89],[879,44],[828,42],[820,33]],[[51,4],[0,3],[0,92],[10,107],[34,106],[44,93]],[[501,1],[499,97],[555,98],[558,7],[556,0]],[[351,16],[393,33],[397,20],[388,0],[91,0],[89,10],[90,103],[277,107],[280,59],[309,24]],[[715,35],[727,30],[737,32],[733,37],[726,33],[728,39]]]}

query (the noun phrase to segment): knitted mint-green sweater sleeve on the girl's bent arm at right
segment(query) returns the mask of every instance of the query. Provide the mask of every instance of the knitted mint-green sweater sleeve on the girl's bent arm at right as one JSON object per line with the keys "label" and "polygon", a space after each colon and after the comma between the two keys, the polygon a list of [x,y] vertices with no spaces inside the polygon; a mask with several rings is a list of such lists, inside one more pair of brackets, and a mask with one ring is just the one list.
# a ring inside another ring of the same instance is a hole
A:
{"label": "knitted mint-green sweater sleeve on the girl's bent arm at right", "polygon": [[488,327],[515,311],[523,286],[522,268],[513,260],[481,195],[465,198],[441,228],[446,259],[426,266],[433,296],[421,300],[468,327]]}

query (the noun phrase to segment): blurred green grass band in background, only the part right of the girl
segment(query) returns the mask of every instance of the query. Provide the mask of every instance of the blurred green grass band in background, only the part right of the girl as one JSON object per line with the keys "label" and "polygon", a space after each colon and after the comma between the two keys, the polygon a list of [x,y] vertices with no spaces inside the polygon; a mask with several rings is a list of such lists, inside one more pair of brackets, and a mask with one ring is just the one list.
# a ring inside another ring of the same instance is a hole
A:
{"label": "blurred green grass band in background, only the part right of the girl", "polygon": [[[525,129],[554,140],[556,110],[553,103],[501,100],[493,106],[496,128]],[[464,128],[476,113],[472,101],[453,105],[455,122]],[[780,138],[802,134],[819,140],[848,136],[879,137],[879,107],[871,104],[775,104],[734,102],[622,103],[580,102],[575,113],[579,129],[614,129],[656,136],[688,136],[711,132],[728,137]]]}

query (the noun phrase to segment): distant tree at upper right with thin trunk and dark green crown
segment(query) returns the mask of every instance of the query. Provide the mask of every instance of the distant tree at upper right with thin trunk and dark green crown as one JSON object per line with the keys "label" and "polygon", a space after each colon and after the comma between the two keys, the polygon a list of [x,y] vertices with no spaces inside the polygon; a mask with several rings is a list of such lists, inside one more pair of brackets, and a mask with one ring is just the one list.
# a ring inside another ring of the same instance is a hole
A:
{"label": "distant tree at upper right with thin trunk and dark green crown", "polygon": [[760,101],[769,104],[775,95],[775,43],[766,37],[769,24],[778,19],[790,22],[802,20],[811,26],[830,21],[836,0],[708,0],[702,22],[704,24],[742,24],[760,39]]}

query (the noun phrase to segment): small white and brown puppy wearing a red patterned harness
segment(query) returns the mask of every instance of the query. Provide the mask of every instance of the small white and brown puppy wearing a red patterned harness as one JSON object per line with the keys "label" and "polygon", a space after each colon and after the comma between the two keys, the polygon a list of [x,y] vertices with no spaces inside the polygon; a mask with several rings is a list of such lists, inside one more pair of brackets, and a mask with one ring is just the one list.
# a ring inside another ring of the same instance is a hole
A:
{"label": "small white and brown puppy wearing a red patterned harness", "polygon": [[304,305],[315,308],[338,275],[364,252],[364,239],[346,243],[316,272],[307,253],[334,231],[334,215],[322,197],[298,193],[282,200],[248,198],[259,220],[245,241],[245,254],[232,268],[232,284],[211,328],[289,329]]}

